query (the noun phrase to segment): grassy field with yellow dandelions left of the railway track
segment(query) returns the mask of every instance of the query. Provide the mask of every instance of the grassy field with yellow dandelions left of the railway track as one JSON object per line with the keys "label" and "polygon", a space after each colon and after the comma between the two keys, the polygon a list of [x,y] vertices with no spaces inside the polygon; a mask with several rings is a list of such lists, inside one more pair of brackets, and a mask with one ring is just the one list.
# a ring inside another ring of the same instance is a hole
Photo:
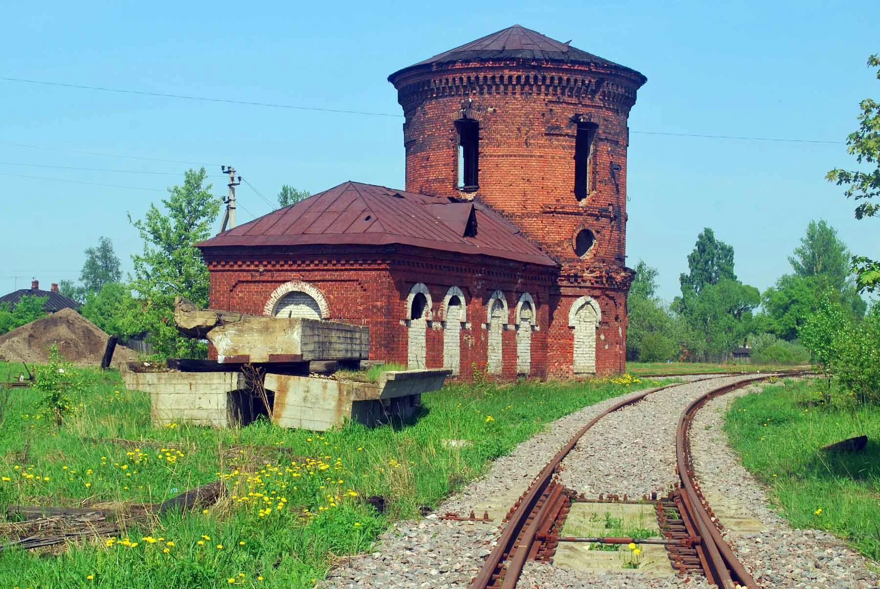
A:
{"label": "grassy field with yellow dandelions left of the railway track", "polygon": [[[0,374],[7,368],[0,364]],[[80,374],[84,394],[61,426],[47,418],[35,390],[11,390],[0,415],[3,512],[9,504],[155,503],[218,478],[228,495],[205,512],[168,513],[115,539],[4,550],[2,586],[311,586],[338,557],[369,549],[392,520],[436,505],[546,423],[651,384],[445,387],[424,395],[424,414],[407,427],[349,424],[315,433],[265,421],[222,431],[154,428],[148,395],[126,390],[116,372]],[[446,439],[472,444],[450,448]],[[231,452],[233,445],[245,447]],[[292,455],[252,445],[280,445]],[[384,514],[363,501],[371,495],[386,498]],[[0,532],[9,526],[0,523]]]}

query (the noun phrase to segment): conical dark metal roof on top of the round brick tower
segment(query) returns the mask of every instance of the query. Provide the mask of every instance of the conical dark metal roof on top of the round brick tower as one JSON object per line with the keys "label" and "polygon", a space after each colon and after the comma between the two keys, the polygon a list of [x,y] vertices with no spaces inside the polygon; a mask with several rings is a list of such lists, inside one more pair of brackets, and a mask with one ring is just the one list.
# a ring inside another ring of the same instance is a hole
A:
{"label": "conical dark metal roof on top of the round brick tower", "polygon": [[[568,41],[570,42],[570,41]],[[524,26],[514,25],[502,29],[497,33],[488,34],[470,43],[444,51],[419,63],[414,63],[402,70],[395,71],[388,80],[394,83],[394,78],[407,70],[430,66],[440,63],[454,62],[479,62],[484,60],[497,60],[506,58],[521,58],[536,61],[554,61],[566,63],[590,63],[605,67],[627,70],[642,76],[639,72],[614,63],[611,60],[587,53],[578,48],[571,47],[568,42],[551,39],[546,35],[527,29]],[[642,76],[643,77],[643,76]]]}

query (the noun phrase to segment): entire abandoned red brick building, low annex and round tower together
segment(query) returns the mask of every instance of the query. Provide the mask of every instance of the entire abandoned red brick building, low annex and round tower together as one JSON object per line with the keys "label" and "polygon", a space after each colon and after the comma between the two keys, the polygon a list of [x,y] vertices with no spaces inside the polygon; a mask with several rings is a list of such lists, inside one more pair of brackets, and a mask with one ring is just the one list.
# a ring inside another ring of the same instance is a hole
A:
{"label": "entire abandoned red brick building, low annex and round tower together", "polygon": [[646,78],[511,26],[388,79],[406,190],[345,182],[198,244],[211,306],[367,325],[370,357],[462,379],[622,372]]}

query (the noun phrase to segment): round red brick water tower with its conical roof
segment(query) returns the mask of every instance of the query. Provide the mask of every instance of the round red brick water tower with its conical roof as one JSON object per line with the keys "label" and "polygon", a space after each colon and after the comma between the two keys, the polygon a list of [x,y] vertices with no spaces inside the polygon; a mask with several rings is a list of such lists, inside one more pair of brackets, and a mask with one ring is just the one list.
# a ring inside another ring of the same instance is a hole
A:
{"label": "round red brick water tower with its conical roof", "polygon": [[517,25],[388,79],[406,117],[407,190],[484,202],[560,264],[547,372],[621,372],[627,118],[647,78]]}

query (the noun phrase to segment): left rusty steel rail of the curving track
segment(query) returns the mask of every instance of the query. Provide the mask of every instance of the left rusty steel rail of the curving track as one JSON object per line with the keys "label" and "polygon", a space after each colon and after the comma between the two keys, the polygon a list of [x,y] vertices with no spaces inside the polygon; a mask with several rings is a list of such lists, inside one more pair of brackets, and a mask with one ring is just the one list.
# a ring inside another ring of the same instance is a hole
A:
{"label": "left rusty steel rail of the curving track", "polygon": [[[709,377],[711,378],[722,378],[722,377]],[[708,380],[701,379],[701,380]],[[590,423],[587,423],[583,426],[577,433],[568,440],[568,443],[560,449],[558,453],[554,455],[554,457],[547,462],[546,466],[541,469],[538,476],[532,482],[532,485],[529,487],[529,490],[526,491],[525,496],[520,500],[519,506],[516,511],[510,516],[508,519],[508,523],[504,526],[502,530],[501,536],[498,538],[498,541],[495,544],[495,549],[492,550],[491,553],[486,557],[486,561],[483,563],[480,572],[477,573],[477,576],[473,579],[471,583],[471,589],[486,589],[493,585],[495,580],[497,580],[498,576],[502,574],[500,568],[502,567],[502,563],[504,562],[505,557],[509,557],[510,553],[517,553],[517,537],[520,532],[523,530],[523,527],[526,525],[526,520],[529,515],[535,508],[535,505],[538,504],[539,498],[544,495],[546,492],[547,486],[550,484],[551,479],[556,471],[556,468],[559,467],[561,461],[572,451],[577,442],[583,437],[587,431],[590,430],[593,425],[598,423],[603,417],[612,414],[614,411],[619,409],[623,409],[624,407],[628,407],[629,405],[634,405],[635,403],[642,401],[649,394],[657,393],[659,391],[668,390],[674,387],[682,387],[687,384],[691,384],[696,382],[691,380],[690,382],[681,382],[676,383],[674,385],[667,385],[665,387],[656,387],[649,389],[641,394],[636,394],[628,399],[623,401],[619,401],[612,405],[609,409],[605,409],[598,416],[593,417],[590,420]],[[549,501],[547,502],[549,503]],[[539,522],[535,522],[538,525]],[[537,528],[536,528],[537,529]],[[524,550],[528,552],[528,549]],[[525,559],[523,556],[517,558],[516,561],[511,561],[512,567],[509,567],[504,574],[504,584],[505,586],[509,585],[508,578],[514,579],[514,581],[519,578],[520,573],[522,572],[522,567],[525,563]]]}

